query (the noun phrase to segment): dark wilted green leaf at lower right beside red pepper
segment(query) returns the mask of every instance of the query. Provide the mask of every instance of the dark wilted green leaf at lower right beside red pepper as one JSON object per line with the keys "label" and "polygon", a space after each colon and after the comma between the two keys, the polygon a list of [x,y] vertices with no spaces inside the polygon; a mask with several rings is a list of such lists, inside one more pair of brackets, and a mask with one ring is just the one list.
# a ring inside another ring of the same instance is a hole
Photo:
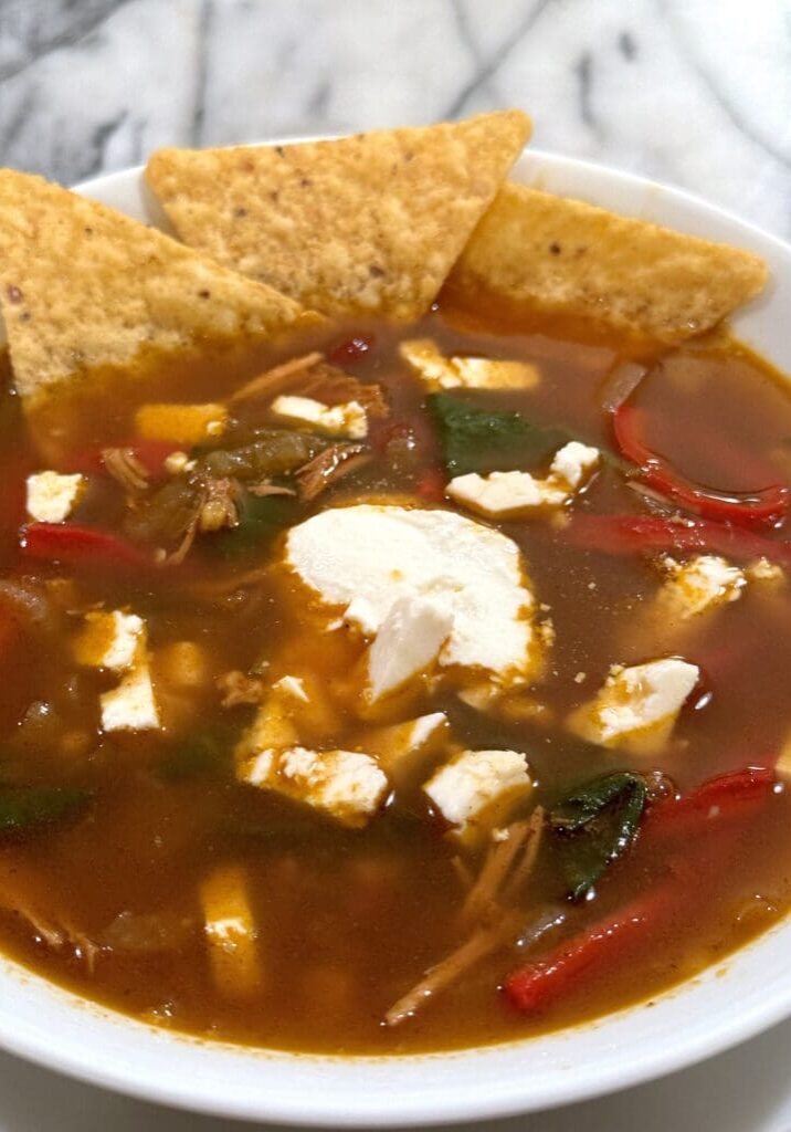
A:
{"label": "dark wilted green leaf at lower right beside red pepper", "polygon": [[551,811],[551,825],[565,834],[561,859],[573,900],[587,895],[635,840],[646,795],[645,779],[624,771],[576,788]]}

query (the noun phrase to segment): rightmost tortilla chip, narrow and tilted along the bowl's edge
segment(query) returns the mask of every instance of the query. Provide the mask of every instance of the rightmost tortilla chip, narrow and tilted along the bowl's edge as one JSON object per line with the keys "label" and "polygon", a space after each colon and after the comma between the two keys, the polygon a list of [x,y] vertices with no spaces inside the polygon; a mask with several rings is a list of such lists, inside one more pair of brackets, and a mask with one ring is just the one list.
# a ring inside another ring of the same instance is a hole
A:
{"label": "rightmost tortilla chip, narrow and tilted along the bowl's edge", "polygon": [[766,277],[748,251],[509,183],[448,285],[679,342],[754,298]]}

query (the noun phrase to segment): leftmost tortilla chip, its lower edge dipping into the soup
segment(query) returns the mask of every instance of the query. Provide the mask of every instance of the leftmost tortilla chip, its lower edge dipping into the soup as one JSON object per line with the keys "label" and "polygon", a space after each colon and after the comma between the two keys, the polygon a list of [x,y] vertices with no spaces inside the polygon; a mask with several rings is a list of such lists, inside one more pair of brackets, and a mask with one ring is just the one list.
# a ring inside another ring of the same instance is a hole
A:
{"label": "leftmost tortilla chip, its lower edge dipping into the soup", "polygon": [[269,336],[318,320],[156,229],[40,177],[0,170],[0,308],[26,398],[141,348]]}

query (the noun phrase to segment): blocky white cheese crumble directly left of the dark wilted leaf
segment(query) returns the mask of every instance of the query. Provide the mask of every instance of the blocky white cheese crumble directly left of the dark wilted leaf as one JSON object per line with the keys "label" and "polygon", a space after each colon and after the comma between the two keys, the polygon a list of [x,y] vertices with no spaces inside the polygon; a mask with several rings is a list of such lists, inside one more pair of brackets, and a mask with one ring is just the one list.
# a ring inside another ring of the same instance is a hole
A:
{"label": "blocky white cheese crumble directly left of the dark wilted leaf", "polygon": [[506,807],[531,789],[527,760],[516,751],[463,751],[423,786],[462,837],[484,820],[497,824]]}

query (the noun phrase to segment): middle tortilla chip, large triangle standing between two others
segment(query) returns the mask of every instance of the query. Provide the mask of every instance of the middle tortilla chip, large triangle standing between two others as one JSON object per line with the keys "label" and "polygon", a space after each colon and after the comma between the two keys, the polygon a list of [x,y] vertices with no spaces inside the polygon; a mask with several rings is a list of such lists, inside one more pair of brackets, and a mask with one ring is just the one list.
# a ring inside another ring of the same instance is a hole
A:
{"label": "middle tortilla chip, large triangle standing between two others", "polygon": [[418,318],[530,134],[518,110],[286,146],[161,149],[148,182],[175,231],[329,315]]}

